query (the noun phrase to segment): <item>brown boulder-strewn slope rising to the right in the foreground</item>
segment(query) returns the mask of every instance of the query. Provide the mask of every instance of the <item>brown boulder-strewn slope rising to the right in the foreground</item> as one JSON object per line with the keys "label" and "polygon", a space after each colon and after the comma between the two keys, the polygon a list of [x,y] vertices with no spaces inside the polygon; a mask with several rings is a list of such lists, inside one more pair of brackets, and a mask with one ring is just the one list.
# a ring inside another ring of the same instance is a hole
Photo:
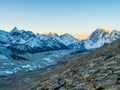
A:
{"label": "brown boulder-strewn slope rising to the right in the foreground", "polygon": [[120,40],[68,63],[22,89],[120,90]]}

